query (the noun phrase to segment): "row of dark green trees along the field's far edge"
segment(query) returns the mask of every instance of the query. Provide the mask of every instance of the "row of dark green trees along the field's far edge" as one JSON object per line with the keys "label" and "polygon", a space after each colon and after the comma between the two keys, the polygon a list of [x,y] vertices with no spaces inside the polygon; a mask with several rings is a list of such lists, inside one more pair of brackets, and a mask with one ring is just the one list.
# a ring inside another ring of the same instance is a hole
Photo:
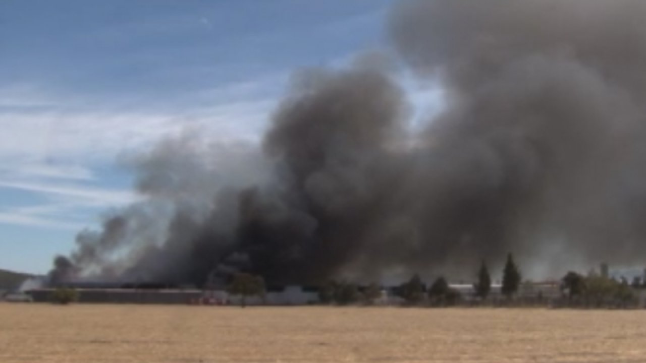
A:
{"label": "row of dark green trees along the field's far edge", "polygon": [[[554,307],[614,307],[627,308],[638,305],[637,289],[645,286],[646,281],[634,278],[629,284],[627,279],[616,280],[597,273],[587,276],[570,271],[563,276],[557,286],[559,297],[550,298],[543,296],[542,291],[537,291],[535,296],[518,296],[522,287],[521,271],[514,262],[512,254],[508,254],[505,267],[502,271],[502,282],[499,294],[492,300],[492,277],[485,262],[482,262],[472,289],[470,298],[465,299],[463,291],[458,291],[448,284],[444,276],[436,278],[428,287],[422,282],[419,275],[415,274],[403,284],[389,291],[401,299],[404,306],[435,306],[446,307],[460,304],[499,304],[510,306],[513,304],[546,304],[550,302]],[[264,280],[260,276],[249,274],[236,274],[227,291],[231,295],[242,296],[240,302],[245,305],[250,296],[264,296]],[[352,282],[330,280],[318,288],[320,304],[346,305],[373,305],[378,304],[381,298],[386,298],[379,284],[360,286]]]}

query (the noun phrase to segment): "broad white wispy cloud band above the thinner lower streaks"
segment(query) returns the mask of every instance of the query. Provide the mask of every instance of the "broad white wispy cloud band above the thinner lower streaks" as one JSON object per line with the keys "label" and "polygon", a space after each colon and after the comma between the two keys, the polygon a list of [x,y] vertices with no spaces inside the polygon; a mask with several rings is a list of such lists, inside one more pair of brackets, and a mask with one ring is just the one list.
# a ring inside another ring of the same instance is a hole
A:
{"label": "broad white wispy cloud band above the thinner lower streaks", "polygon": [[215,138],[258,138],[277,98],[266,90],[273,88],[267,84],[276,82],[267,77],[207,88],[175,105],[121,109],[110,104],[85,107],[81,102],[39,110],[0,109],[1,169],[8,165],[20,174],[56,177],[62,172],[90,178],[91,173],[82,170],[87,165],[109,163],[121,152],[149,147],[187,127],[213,132]]}

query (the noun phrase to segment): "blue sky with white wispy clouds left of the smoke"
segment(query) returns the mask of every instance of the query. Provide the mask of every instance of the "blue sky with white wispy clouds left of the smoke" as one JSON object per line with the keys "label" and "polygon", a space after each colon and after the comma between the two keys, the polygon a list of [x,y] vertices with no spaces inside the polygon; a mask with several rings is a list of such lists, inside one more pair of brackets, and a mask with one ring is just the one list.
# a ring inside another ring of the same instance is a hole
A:
{"label": "blue sky with white wispy clouds left of the smoke", "polygon": [[386,47],[390,0],[0,2],[0,268],[45,273],[132,201],[121,155],[257,141],[290,72]]}

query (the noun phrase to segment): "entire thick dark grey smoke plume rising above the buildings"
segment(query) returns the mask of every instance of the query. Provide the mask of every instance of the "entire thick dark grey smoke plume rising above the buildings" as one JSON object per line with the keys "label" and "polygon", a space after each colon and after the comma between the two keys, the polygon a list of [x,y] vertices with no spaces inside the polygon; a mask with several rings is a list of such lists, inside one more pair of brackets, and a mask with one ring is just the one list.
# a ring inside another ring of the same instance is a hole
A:
{"label": "entire thick dark grey smoke plume rising above the buildings", "polygon": [[508,252],[537,277],[641,264],[643,19],[641,0],[401,1],[393,48],[445,97],[423,130],[389,72],[304,72],[262,150],[185,136],[138,158],[143,200],[79,234],[54,275],[466,277]]}

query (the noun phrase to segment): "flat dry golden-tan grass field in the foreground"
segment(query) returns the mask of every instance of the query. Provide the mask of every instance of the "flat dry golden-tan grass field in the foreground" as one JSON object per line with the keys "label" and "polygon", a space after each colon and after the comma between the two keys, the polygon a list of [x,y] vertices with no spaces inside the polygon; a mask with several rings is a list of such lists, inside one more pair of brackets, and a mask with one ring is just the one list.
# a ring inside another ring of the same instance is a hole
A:
{"label": "flat dry golden-tan grass field in the foreground", "polygon": [[0,304],[0,362],[646,362],[646,311]]}

